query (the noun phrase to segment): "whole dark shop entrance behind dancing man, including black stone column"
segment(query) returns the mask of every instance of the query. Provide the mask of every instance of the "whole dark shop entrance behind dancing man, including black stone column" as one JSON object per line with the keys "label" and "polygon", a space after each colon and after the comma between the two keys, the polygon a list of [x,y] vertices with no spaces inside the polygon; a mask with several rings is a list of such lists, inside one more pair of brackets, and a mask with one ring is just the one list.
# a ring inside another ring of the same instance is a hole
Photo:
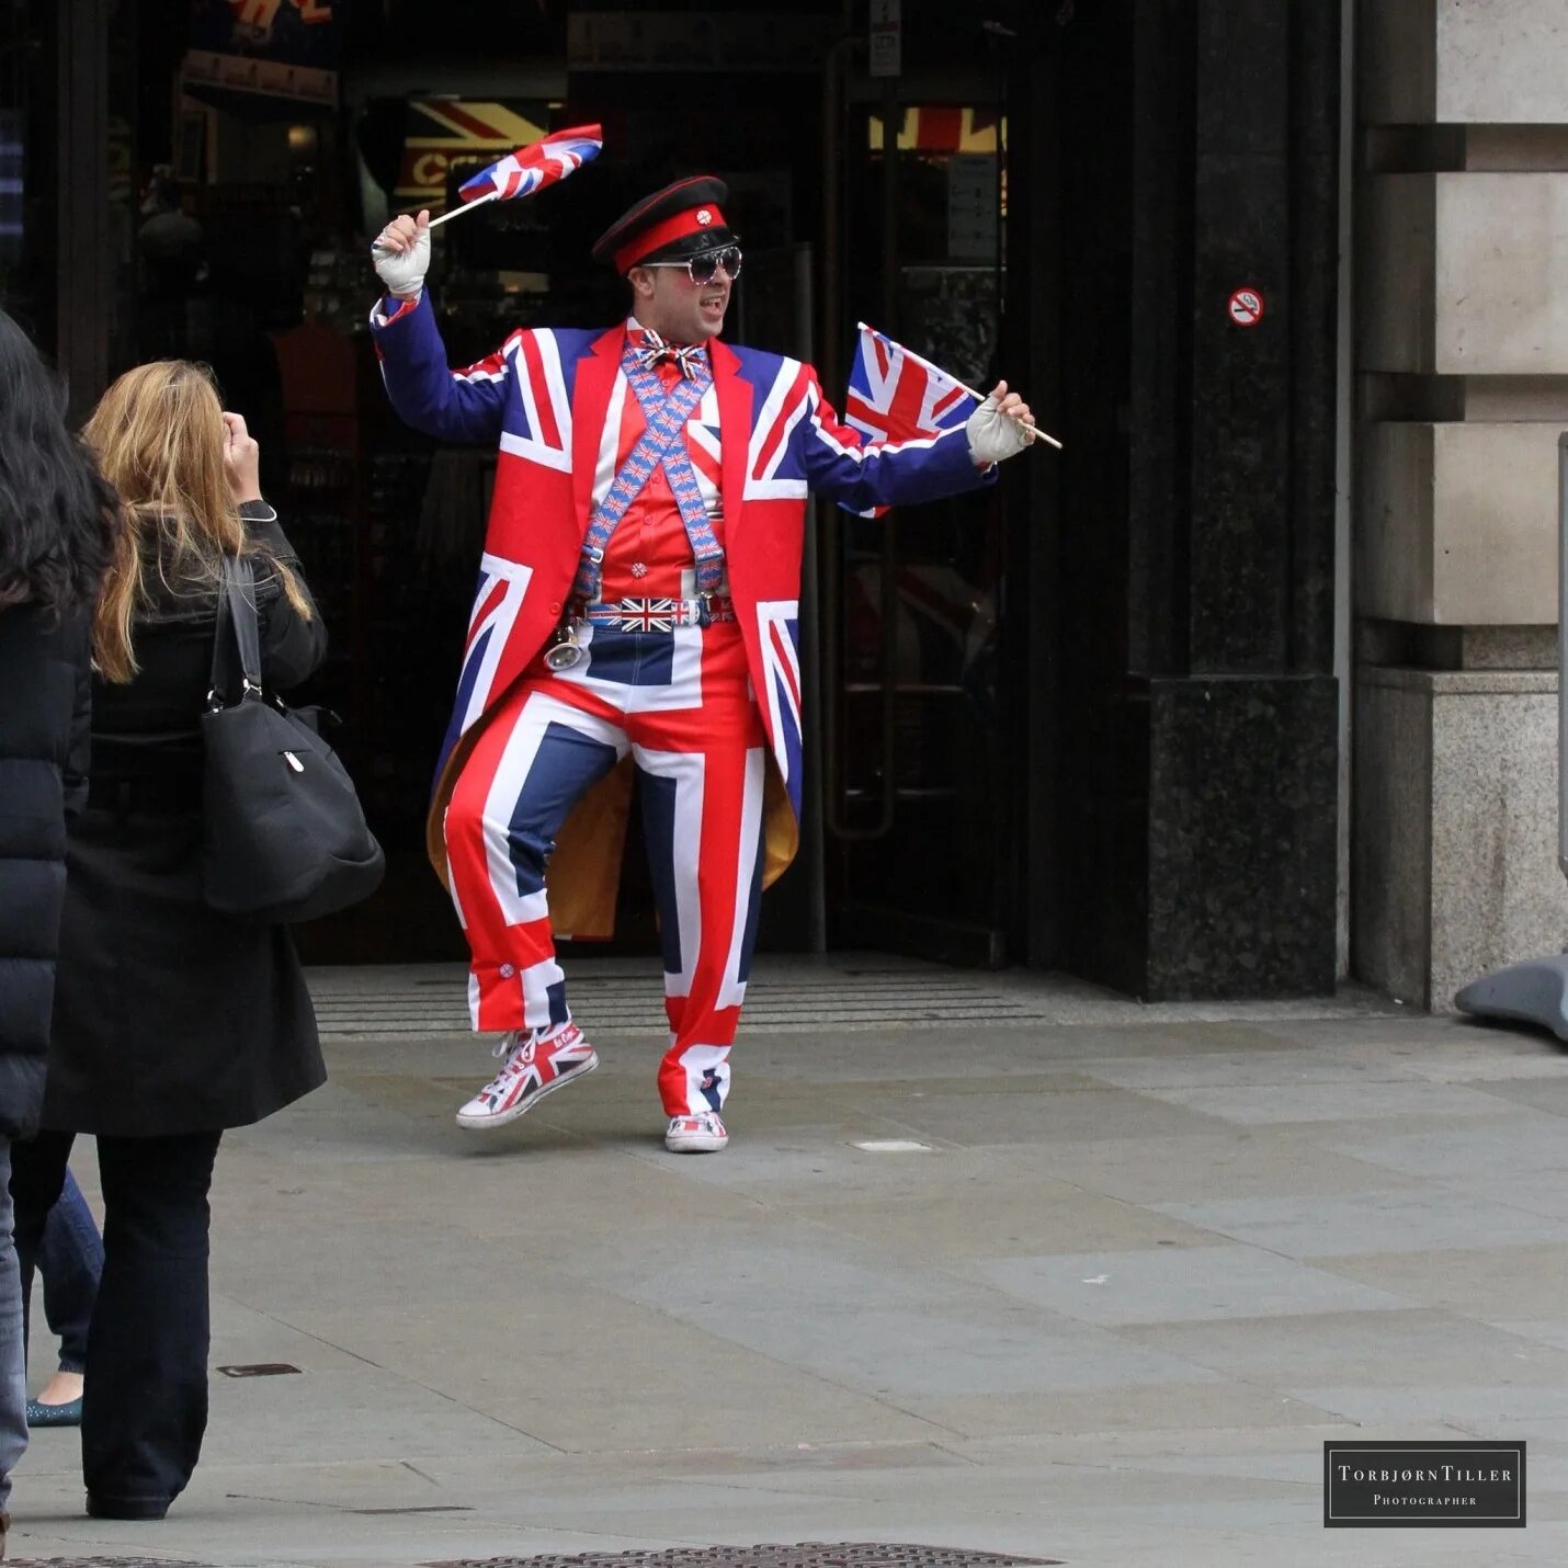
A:
{"label": "whole dark shop entrance behind dancing man, including black stone column", "polygon": [[[869,0],[309,9],[334,17],[337,96],[263,60],[270,99],[241,113],[199,96],[185,31],[227,6],[0,6],[0,155],[22,160],[31,224],[17,246],[0,213],[0,265],[69,323],[53,347],[74,364],[202,354],[265,409],[337,643],[318,696],[392,861],[381,898],[303,933],[314,958],[461,952],[422,817],[492,461],[389,416],[368,235],[450,199],[514,129],[599,119],[615,158],[447,230],[455,362],[513,326],[615,320],[593,235],[710,169],[759,263],[737,323],[756,347],[809,356],[837,400],[866,320],[982,389],[1005,375],[1066,442],[975,495],[817,510],[815,775],[764,946],[1145,996],[1333,983],[1338,3],[903,0],[887,75]],[[252,14],[304,27],[293,0]],[[113,172],[85,133],[52,151],[52,116],[108,125]],[[113,210],[119,248],[50,257],[41,179],[71,196],[61,240]],[[1237,336],[1240,284],[1269,315]],[[638,872],[619,941],[655,950]]]}

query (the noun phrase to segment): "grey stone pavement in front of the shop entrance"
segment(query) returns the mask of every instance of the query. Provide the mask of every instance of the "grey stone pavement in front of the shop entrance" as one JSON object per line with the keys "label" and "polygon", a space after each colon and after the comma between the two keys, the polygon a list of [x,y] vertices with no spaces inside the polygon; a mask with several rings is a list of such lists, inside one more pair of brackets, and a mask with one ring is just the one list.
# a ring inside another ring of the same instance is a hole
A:
{"label": "grey stone pavement in front of the shop entrance", "polygon": [[[773,960],[734,1143],[681,1157],[652,966],[579,974],[604,1065],[491,1135],[452,1123],[491,1063],[450,969],[317,977],[332,1082],[226,1140],[213,1204],[213,1364],[298,1375],[213,1377],[163,1524],[83,1518],[77,1433],[38,1433],[13,1557],[1568,1560],[1549,1038]],[[378,1010],[416,983],[428,1018]],[[1466,1435],[1529,1441],[1527,1529],[1322,1527],[1325,1439]]]}

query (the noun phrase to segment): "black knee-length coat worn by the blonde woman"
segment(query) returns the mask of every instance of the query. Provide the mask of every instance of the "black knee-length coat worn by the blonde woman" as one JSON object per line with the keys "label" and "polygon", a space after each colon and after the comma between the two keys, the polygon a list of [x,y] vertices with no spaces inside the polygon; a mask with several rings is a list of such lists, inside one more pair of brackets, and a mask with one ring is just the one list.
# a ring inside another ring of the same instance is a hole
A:
{"label": "black knee-length coat worn by the blonde woman", "polygon": [[[292,560],[276,514],[254,536]],[[238,1127],[325,1079],[315,1013],[287,927],[215,914],[201,898],[201,712],[216,593],[154,583],[129,685],[93,685],[88,806],[69,839],[55,1030],[42,1124],[113,1137]],[[262,676],[284,691],[321,662],[257,561]]]}

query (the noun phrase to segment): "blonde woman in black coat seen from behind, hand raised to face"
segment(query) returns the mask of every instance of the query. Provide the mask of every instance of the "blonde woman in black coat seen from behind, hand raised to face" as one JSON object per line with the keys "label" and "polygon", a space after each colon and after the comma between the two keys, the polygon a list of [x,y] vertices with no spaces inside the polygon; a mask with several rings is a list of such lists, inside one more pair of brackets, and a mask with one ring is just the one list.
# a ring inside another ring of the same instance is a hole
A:
{"label": "blonde woman in black coat seen from behind, hand raised to face", "polygon": [[17,1146],[24,1279],[78,1132],[97,1135],[103,1276],[88,1331],[88,1513],[157,1519],[207,1424],[207,1192],[226,1127],[325,1079],[289,931],[201,897],[202,742],[224,555],[256,558],[262,673],[287,690],[325,633],[257,445],[204,368],[141,365],[83,431],[119,492],[93,629],[88,806],[66,850],[44,1131]]}

